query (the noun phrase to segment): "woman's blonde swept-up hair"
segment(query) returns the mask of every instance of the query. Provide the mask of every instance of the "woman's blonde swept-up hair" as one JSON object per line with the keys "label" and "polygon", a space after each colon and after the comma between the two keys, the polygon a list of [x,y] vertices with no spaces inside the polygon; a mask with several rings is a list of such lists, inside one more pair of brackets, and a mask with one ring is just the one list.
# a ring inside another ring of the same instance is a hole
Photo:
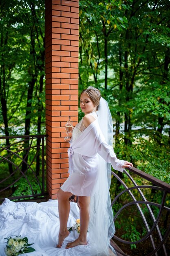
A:
{"label": "woman's blonde swept-up hair", "polygon": [[91,99],[91,101],[95,105],[96,110],[98,110],[99,101],[100,101],[100,98],[101,98],[100,91],[97,88],[93,87],[93,86],[89,86],[87,89],[85,89],[81,92],[80,97],[83,93],[88,94],[88,97]]}

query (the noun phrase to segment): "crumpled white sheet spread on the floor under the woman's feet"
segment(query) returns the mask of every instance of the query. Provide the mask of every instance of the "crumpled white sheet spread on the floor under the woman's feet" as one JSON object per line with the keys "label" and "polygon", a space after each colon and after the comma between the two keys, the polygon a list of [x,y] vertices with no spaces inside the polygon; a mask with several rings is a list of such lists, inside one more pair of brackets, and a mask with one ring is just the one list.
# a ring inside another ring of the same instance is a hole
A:
{"label": "crumpled white sheet spread on the floor under the woman's feet", "polygon": [[[71,202],[68,227],[79,218],[77,203]],[[31,247],[36,251],[23,256],[91,256],[90,245],[79,245],[65,249],[68,242],[78,237],[77,231],[71,231],[64,240],[62,248],[56,248],[59,231],[57,200],[48,202],[12,202],[5,199],[0,206],[0,256],[5,256],[5,237],[27,236]]]}

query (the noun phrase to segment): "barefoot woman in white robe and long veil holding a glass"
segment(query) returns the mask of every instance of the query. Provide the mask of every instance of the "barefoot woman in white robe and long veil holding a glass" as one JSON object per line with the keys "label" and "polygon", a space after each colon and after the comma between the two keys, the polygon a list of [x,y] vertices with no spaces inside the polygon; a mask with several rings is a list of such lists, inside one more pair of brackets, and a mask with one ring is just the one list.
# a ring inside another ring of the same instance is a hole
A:
{"label": "barefoot woman in white robe and long veil holding a glass", "polygon": [[80,107],[84,117],[73,129],[68,149],[70,175],[57,192],[60,218],[57,247],[61,247],[69,235],[69,198],[78,195],[80,233],[77,240],[67,244],[66,249],[86,245],[88,230],[91,255],[104,256],[109,255],[109,241],[115,232],[109,194],[111,168],[107,163],[121,172],[132,164],[117,159],[114,153],[112,118],[99,90],[93,86],[84,90],[80,95]]}

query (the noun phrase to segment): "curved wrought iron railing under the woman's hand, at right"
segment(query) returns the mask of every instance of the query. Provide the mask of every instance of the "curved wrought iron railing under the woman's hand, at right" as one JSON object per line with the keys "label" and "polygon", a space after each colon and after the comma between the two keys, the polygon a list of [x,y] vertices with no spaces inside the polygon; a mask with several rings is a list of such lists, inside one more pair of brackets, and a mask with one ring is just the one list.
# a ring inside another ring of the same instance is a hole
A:
{"label": "curved wrought iron railing under the woman's hand, at right", "polygon": [[[121,177],[112,174],[119,182],[119,191],[112,201],[118,226],[113,237],[117,254],[170,255],[170,185],[134,167],[124,169]],[[123,225],[125,218],[126,223],[129,220],[128,227]]]}

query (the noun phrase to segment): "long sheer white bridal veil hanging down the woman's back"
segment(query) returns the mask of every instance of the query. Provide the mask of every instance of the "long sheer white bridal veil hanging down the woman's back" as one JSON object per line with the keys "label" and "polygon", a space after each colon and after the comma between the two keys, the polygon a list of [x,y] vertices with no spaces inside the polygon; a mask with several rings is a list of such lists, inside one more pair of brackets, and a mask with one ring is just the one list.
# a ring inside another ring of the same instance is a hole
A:
{"label": "long sheer white bridal veil hanging down the woman's back", "polygon": [[[97,111],[99,127],[105,137],[106,142],[113,146],[113,121],[107,101],[100,99]],[[96,256],[109,255],[110,239],[115,233],[113,222],[113,210],[110,201],[111,165],[99,156],[98,177],[95,184],[94,193],[91,196],[90,204],[90,225],[89,236],[91,244],[91,254]],[[110,247],[110,249],[114,249]],[[116,253],[115,253],[116,254]]]}

